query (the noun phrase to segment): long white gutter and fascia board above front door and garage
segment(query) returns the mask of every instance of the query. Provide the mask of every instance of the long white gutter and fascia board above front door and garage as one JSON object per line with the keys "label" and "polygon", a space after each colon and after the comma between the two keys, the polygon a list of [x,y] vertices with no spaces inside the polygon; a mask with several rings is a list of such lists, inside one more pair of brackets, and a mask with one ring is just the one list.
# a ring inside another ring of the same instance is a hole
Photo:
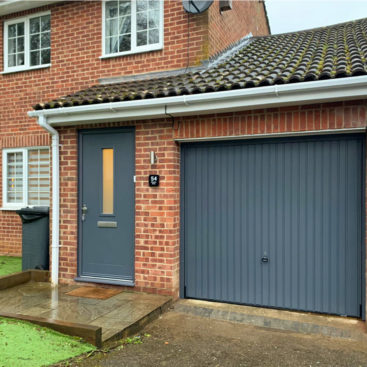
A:
{"label": "long white gutter and fascia board above front door and garage", "polygon": [[367,99],[367,76],[30,111],[67,126]]}

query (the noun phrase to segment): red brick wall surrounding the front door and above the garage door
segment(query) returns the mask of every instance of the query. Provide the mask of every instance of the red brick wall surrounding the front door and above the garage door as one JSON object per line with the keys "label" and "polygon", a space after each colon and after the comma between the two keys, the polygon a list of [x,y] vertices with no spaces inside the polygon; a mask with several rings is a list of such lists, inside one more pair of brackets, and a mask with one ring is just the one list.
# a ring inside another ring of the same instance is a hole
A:
{"label": "red brick wall surrounding the front door and above the garage door", "polygon": [[[100,124],[136,126],[136,290],[178,296],[180,163],[176,138],[235,136],[367,126],[367,101],[273,108],[218,115]],[[92,127],[92,126],[88,126]],[[77,264],[77,128],[61,134],[62,282],[73,282]],[[151,166],[149,152],[158,157]],[[148,186],[149,174],[160,187]]]}

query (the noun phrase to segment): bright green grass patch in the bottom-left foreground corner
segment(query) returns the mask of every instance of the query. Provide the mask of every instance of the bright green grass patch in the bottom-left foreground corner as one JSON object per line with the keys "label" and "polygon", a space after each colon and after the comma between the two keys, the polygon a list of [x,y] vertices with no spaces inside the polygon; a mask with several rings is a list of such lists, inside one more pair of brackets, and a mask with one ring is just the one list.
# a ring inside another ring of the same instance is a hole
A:
{"label": "bright green grass patch in the bottom-left foreground corner", "polygon": [[0,366],[38,367],[95,350],[79,338],[0,317]]}

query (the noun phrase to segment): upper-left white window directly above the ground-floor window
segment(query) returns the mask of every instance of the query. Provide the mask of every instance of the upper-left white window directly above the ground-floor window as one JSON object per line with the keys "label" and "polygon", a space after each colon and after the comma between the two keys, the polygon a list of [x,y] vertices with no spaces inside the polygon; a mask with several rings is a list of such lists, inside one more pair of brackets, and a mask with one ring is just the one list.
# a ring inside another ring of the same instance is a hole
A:
{"label": "upper-left white window directly above the ground-floor window", "polygon": [[4,71],[48,66],[51,62],[51,15],[37,14],[4,23]]}

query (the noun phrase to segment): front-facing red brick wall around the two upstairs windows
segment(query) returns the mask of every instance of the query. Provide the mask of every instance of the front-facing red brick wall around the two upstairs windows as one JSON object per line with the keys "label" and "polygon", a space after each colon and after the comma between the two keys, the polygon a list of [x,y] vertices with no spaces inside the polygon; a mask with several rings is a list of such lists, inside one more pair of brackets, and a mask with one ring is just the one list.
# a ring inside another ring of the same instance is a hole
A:
{"label": "front-facing red brick wall around the two upstairs windows", "polygon": [[[40,136],[42,145],[49,144],[48,134],[27,117],[27,111],[38,102],[89,87],[102,77],[184,68],[208,58],[208,12],[188,15],[177,0],[166,0],[164,6],[163,50],[109,59],[99,58],[102,52],[100,1],[66,2],[3,17],[2,20],[11,19],[51,9],[52,66],[0,75],[0,148],[35,146],[38,143],[34,139]],[[2,35],[3,23],[1,45]],[[211,34],[212,41],[214,38]],[[2,69],[3,48],[0,47]],[[14,212],[0,212],[0,254],[20,254],[20,228]]]}

